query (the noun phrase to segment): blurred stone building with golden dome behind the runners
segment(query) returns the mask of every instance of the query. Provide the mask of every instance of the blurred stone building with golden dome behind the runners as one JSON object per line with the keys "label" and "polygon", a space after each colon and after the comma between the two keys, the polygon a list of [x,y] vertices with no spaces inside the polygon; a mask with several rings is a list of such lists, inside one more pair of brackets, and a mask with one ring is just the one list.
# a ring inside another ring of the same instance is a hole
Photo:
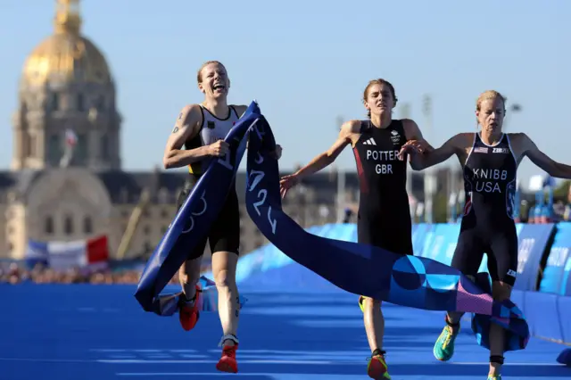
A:
{"label": "blurred stone building with golden dome behind the runners", "polygon": [[[185,173],[121,168],[115,78],[81,34],[79,0],[56,3],[54,34],[32,50],[21,73],[11,168],[0,172],[0,258],[24,258],[30,240],[99,235],[108,236],[112,258],[148,257],[175,215]],[[75,141],[72,156],[66,139]],[[414,179],[421,189],[422,179]],[[346,175],[344,202],[353,209],[357,181],[356,173]],[[266,240],[245,211],[244,173],[236,183],[242,252],[250,252]],[[323,173],[298,186],[284,210],[304,227],[334,222],[335,198],[335,173]]]}

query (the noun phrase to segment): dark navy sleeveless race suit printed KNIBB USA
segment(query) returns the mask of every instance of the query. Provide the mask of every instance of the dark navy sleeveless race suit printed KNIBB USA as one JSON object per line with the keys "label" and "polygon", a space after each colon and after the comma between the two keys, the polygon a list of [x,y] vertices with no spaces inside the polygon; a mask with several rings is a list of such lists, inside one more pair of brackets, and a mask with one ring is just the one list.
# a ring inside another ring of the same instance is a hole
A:
{"label": "dark navy sleeveless race suit printed KNIBB USA", "polygon": [[466,205],[451,266],[475,276],[484,252],[493,281],[514,285],[517,276],[517,232],[513,219],[516,156],[509,136],[485,145],[479,134],[464,165]]}

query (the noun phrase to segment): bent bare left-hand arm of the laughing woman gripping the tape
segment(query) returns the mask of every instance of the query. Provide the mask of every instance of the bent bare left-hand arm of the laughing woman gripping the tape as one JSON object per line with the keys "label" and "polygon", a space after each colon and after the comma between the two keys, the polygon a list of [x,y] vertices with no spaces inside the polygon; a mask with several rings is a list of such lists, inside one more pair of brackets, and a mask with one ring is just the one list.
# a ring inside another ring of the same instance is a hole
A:
{"label": "bent bare left-hand arm of the laughing woman gripping the tape", "polygon": [[211,155],[218,156],[226,153],[228,143],[222,140],[213,145],[205,145],[195,149],[181,149],[188,138],[196,136],[202,121],[203,116],[198,104],[186,105],[182,109],[162,156],[162,164],[165,169],[180,168]]}

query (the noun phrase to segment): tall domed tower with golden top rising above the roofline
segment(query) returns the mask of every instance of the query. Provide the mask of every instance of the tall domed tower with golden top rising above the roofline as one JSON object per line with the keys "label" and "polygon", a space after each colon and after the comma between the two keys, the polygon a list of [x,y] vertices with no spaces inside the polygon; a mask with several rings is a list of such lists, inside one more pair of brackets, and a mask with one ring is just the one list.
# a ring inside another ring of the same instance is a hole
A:
{"label": "tall domed tower with golden top rising above the roofline", "polygon": [[111,70],[80,34],[78,1],[57,4],[54,34],[33,49],[22,70],[11,167],[60,166],[69,131],[77,139],[73,164],[120,169],[120,114]]}

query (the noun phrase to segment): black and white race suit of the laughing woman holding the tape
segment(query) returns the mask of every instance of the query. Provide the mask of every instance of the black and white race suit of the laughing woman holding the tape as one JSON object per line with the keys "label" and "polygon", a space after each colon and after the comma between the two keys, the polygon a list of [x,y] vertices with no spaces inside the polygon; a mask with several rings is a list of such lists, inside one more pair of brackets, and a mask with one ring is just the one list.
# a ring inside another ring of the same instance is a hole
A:
{"label": "black and white race suit of the laughing woman holding the tape", "polygon": [[[201,105],[201,112],[203,114],[203,122],[199,133],[188,139],[185,143],[185,149],[195,149],[204,145],[211,145],[220,139],[224,139],[236,121],[240,119],[233,106],[230,106],[228,117],[226,119],[219,119],[206,108]],[[193,186],[198,182],[198,179],[203,175],[203,172],[208,169],[211,158],[203,161],[197,161],[188,166],[189,176],[186,178],[185,185],[178,195],[177,207],[180,207],[186,201],[186,197],[191,193]],[[181,235],[181,238],[184,238]],[[228,196],[222,206],[218,219],[214,221],[208,236],[205,236],[203,241],[200,242],[193,252],[189,252],[188,260],[193,260],[201,257],[206,247],[208,240],[211,252],[235,252],[239,253],[240,249],[240,211],[238,204],[238,195],[236,194],[236,182],[228,192]]]}

